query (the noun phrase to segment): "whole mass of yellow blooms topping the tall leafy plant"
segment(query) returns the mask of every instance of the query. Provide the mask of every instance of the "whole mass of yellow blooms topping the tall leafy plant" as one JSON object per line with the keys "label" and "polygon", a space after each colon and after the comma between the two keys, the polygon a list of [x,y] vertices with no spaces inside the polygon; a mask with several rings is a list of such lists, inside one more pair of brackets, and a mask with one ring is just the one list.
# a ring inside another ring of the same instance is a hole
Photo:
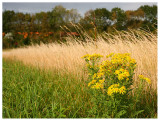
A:
{"label": "whole mass of yellow blooms topping the tall leafy plant", "polygon": [[[100,54],[87,54],[82,57],[88,63],[87,67],[93,68],[93,71],[90,70],[92,81],[88,83],[88,86],[95,89],[106,89],[105,86],[113,84],[106,90],[109,96],[114,93],[126,93],[125,85],[128,84],[129,77],[135,69],[135,59],[131,58],[129,53],[111,53],[106,56],[107,60],[103,61],[101,64],[98,64],[95,61],[90,61],[100,59],[101,57],[103,56]],[[91,66],[93,67],[90,66],[90,63],[92,63]]]}

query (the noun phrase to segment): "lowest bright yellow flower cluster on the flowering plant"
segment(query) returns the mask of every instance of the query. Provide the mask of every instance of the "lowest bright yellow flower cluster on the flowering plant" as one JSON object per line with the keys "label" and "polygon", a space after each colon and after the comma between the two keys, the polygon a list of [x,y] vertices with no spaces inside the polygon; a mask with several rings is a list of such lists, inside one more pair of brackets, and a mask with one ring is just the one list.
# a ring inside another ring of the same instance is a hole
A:
{"label": "lowest bright yellow flower cluster on the flowering plant", "polygon": [[107,94],[109,96],[112,96],[115,93],[119,93],[119,94],[124,94],[126,93],[126,88],[125,86],[120,87],[119,84],[113,84],[108,88]]}

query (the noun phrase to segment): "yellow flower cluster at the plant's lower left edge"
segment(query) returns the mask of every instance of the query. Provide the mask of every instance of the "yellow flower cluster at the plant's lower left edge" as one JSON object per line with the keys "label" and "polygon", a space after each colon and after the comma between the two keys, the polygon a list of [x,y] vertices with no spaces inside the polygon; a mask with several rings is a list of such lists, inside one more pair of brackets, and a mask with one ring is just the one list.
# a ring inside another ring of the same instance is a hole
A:
{"label": "yellow flower cluster at the plant's lower left edge", "polygon": [[97,80],[92,80],[91,82],[88,83],[88,86],[91,86],[91,88],[95,89],[103,89],[103,83],[105,80],[101,79],[97,82]]}

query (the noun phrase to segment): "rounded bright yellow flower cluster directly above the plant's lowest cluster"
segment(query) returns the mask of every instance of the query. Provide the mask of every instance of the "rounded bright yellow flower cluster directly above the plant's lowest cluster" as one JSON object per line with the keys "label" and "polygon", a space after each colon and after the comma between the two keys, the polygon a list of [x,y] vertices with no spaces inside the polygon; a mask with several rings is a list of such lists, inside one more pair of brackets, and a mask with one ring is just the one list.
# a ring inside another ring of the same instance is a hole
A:
{"label": "rounded bright yellow flower cluster directly above the plant's lowest cluster", "polygon": [[115,74],[117,75],[117,77],[118,77],[119,80],[123,80],[123,79],[126,79],[127,81],[129,80],[128,77],[130,75],[129,75],[128,70],[126,70],[126,69],[121,68],[119,70],[116,70]]}

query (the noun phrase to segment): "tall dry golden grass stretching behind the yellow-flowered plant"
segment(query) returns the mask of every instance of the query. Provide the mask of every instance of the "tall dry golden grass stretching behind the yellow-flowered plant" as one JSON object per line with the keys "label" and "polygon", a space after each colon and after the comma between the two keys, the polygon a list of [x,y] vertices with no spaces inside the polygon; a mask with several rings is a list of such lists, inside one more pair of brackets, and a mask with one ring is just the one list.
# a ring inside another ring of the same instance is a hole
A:
{"label": "tall dry golden grass stretching behind the yellow-flowered plant", "polygon": [[134,86],[138,84],[137,75],[142,74],[152,80],[152,87],[157,90],[157,35],[145,31],[118,32],[117,35],[104,33],[97,37],[96,42],[85,37],[85,43],[69,37],[65,44],[41,44],[12,49],[3,52],[3,57],[43,69],[72,73],[79,78],[86,75],[85,62],[81,59],[85,54],[131,53],[137,61]]}

